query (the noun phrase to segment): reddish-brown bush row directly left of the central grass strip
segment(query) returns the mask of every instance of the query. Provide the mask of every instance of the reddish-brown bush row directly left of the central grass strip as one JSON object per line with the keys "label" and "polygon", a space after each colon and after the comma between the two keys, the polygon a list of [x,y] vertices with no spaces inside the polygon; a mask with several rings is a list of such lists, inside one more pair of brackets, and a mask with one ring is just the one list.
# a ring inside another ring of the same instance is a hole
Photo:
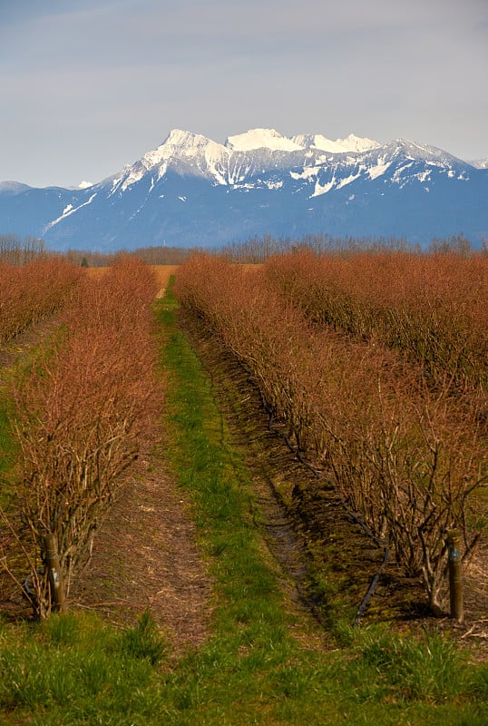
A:
{"label": "reddish-brown bush row directly left of the central grass strip", "polygon": [[3,563],[21,586],[29,571],[41,617],[53,604],[44,538],[57,538],[68,593],[120,475],[150,434],[161,399],[151,340],[157,290],[137,260],[100,280],[83,277],[52,345],[12,380],[17,455],[2,512]]}

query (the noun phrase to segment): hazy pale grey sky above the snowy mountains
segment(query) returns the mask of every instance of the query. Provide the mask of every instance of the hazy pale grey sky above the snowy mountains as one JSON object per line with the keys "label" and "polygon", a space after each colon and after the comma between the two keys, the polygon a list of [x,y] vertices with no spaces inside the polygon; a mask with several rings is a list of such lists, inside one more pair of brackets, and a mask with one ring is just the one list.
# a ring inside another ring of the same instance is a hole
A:
{"label": "hazy pale grey sky above the snowy mountains", "polygon": [[487,0],[0,0],[0,181],[99,182],[172,128],[488,155]]}

